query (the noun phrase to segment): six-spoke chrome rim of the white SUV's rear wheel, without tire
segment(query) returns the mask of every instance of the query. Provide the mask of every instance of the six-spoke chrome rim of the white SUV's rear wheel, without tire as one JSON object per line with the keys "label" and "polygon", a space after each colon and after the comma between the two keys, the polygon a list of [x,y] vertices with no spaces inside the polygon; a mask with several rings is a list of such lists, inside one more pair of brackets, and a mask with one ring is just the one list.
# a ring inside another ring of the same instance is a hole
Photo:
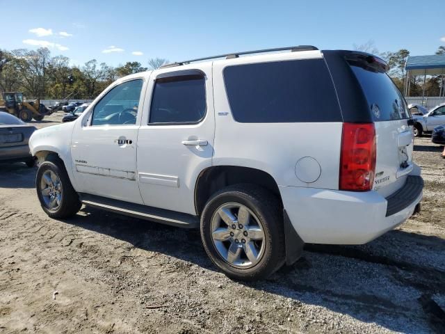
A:
{"label": "six-spoke chrome rim of the white SUV's rear wheel, without tire", "polygon": [[219,255],[241,269],[257,264],[266,247],[263,225],[248,207],[236,202],[221,205],[213,214],[211,238]]}

